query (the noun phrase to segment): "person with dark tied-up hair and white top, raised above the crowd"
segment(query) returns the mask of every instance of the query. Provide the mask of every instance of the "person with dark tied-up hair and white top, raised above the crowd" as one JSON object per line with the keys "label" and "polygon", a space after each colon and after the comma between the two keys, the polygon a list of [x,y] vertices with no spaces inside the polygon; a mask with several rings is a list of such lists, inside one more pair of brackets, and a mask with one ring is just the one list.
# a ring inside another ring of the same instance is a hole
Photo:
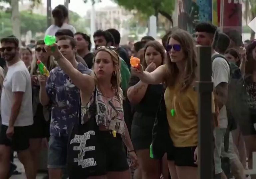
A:
{"label": "person with dark tied-up hair and white top, raised above the crowd", "polygon": [[45,32],[45,35],[55,35],[59,29],[69,29],[73,32],[76,32],[75,28],[72,25],[67,24],[68,22],[68,10],[64,5],[58,5],[52,11],[54,18],[54,24],[51,25]]}

